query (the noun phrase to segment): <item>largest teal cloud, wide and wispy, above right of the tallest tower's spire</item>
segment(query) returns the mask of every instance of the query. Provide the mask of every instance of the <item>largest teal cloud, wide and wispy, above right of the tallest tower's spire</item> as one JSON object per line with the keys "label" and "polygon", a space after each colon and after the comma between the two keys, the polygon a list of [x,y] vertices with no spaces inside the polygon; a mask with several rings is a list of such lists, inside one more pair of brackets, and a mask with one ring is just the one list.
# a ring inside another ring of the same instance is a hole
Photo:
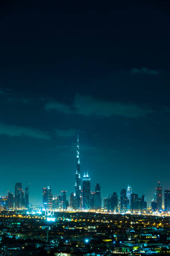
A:
{"label": "largest teal cloud, wide and wispy, above right of the tallest tower's spire", "polygon": [[76,95],[74,107],[80,115],[93,115],[97,117],[111,117],[120,115],[137,118],[153,112],[148,106],[133,103],[113,102],[100,100],[92,96]]}

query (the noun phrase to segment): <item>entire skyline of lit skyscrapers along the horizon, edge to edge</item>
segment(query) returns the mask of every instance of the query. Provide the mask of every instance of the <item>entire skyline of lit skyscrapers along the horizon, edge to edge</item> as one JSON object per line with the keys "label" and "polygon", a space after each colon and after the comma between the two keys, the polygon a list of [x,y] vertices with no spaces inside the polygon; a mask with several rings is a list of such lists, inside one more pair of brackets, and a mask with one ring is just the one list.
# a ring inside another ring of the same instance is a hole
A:
{"label": "entire skyline of lit skyscrapers along the horizon, edge to edge", "polygon": [[[95,191],[91,191],[90,175],[85,173],[81,179],[80,176],[80,148],[79,138],[77,136],[77,157],[74,192],[70,194],[70,202],[67,199],[67,191],[61,191],[61,195],[52,196],[50,184],[42,190],[42,210],[52,212],[55,210],[104,210],[107,212],[127,212],[133,210],[170,210],[170,189],[164,190],[164,208],[162,203],[162,186],[158,183],[153,200],[147,205],[145,195],[141,197],[132,192],[128,185],[127,189],[120,190],[120,198],[117,192],[108,195],[101,200],[100,184],[95,185]],[[29,185],[23,191],[20,182],[15,183],[15,195],[8,192],[7,196],[0,197],[0,209],[29,209]]]}

